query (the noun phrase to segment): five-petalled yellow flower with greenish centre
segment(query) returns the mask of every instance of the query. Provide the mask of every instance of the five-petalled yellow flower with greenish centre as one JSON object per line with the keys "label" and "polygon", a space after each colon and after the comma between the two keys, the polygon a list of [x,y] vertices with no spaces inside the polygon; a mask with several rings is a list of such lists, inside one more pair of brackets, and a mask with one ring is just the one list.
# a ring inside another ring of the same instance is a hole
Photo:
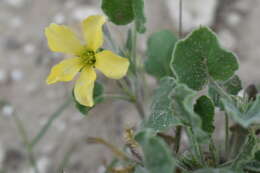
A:
{"label": "five-petalled yellow flower with greenish centre", "polygon": [[95,68],[105,76],[120,79],[126,75],[129,61],[109,50],[98,52],[103,44],[102,26],[104,16],[90,16],[82,22],[85,44],[82,44],[76,34],[64,25],[51,24],[45,29],[49,48],[53,52],[73,55],[72,58],[55,65],[46,82],[71,81],[78,72],[80,76],[74,87],[76,100],[85,106],[93,106],[93,89],[96,80]]}

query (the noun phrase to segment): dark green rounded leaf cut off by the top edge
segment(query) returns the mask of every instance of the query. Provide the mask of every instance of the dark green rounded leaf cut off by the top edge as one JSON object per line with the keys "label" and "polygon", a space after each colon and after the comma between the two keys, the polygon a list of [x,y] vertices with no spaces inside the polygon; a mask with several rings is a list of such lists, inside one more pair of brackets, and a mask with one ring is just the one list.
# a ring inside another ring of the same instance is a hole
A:
{"label": "dark green rounded leaf cut off by the top edge", "polygon": [[102,10],[117,25],[126,25],[134,20],[132,0],[102,0]]}

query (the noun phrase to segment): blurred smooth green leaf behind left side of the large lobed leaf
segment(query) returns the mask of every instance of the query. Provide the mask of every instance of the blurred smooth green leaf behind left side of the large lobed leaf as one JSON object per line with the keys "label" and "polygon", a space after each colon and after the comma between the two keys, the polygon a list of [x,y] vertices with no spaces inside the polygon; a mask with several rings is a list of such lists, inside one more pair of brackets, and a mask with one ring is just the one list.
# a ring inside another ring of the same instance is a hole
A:
{"label": "blurred smooth green leaf behind left side of the large lobed leaf", "polygon": [[169,64],[176,42],[177,37],[169,30],[156,32],[149,37],[145,69],[150,75],[157,79],[172,76]]}

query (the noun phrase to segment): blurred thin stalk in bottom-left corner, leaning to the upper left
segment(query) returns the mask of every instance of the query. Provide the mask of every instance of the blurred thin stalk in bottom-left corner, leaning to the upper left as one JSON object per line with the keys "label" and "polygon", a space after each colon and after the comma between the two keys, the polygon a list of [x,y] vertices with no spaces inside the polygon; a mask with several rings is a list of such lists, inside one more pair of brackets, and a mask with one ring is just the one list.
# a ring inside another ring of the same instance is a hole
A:
{"label": "blurred thin stalk in bottom-left corner, leaning to the upper left", "polygon": [[26,146],[26,150],[27,150],[28,157],[29,157],[29,162],[34,169],[34,173],[39,173],[39,170],[38,170],[38,167],[37,167],[37,162],[36,162],[36,159],[35,159],[34,154],[33,154],[33,148],[30,145],[30,141],[29,141],[27,132],[24,128],[24,125],[23,125],[22,121],[20,120],[20,118],[18,116],[16,116],[15,114],[13,115],[13,118],[14,118],[14,122],[16,124],[16,127],[18,129],[18,132],[19,132],[19,134],[20,134],[20,136],[23,140],[23,143]]}

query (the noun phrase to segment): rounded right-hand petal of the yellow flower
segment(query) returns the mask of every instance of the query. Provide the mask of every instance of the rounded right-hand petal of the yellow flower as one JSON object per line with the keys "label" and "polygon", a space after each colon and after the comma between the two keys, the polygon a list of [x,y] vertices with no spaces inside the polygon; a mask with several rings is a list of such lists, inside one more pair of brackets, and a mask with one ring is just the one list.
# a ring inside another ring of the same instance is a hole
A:
{"label": "rounded right-hand petal of the yellow flower", "polygon": [[105,50],[96,54],[95,67],[112,79],[120,79],[126,75],[129,61],[111,51]]}

